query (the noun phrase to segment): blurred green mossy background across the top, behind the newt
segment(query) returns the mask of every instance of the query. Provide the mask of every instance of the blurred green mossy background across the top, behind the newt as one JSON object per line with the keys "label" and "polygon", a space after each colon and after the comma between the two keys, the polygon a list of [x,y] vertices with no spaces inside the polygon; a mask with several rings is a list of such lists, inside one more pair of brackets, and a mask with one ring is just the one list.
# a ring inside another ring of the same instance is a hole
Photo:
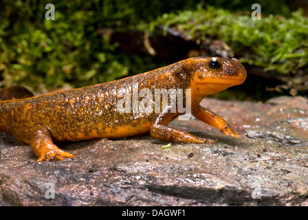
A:
{"label": "blurred green mossy background across the top, behind the newt", "polygon": [[[55,6],[55,20],[45,19],[47,3]],[[253,3],[261,4],[261,21],[251,19]],[[287,0],[3,0],[0,87],[22,85],[45,93],[58,87],[104,83],[161,67],[169,64],[168,59],[122,52],[108,30],[155,33],[155,26],[168,25],[192,40],[212,38],[227,43],[242,63],[289,76],[292,83],[287,89],[305,95],[308,20],[300,7]],[[259,87],[262,85],[255,89]],[[240,96],[245,99],[245,94]],[[262,97],[261,93],[255,99]]]}

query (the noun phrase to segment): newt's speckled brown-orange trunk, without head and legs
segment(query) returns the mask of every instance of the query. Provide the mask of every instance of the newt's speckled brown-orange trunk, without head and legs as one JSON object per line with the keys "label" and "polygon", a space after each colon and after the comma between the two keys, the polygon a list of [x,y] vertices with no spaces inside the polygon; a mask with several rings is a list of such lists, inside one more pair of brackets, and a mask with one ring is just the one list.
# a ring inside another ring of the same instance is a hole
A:
{"label": "newt's speckled brown-orange trunk, without head and legs", "polygon": [[[143,135],[149,132],[157,113],[133,111],[133,92],[183,87],[173,69],[164,67],[110,83],[0,102],[0,131],[26,143],[36,124],[46,126],[55,141]],[[129,111],[119,111],[118,104],[129,91]]]}

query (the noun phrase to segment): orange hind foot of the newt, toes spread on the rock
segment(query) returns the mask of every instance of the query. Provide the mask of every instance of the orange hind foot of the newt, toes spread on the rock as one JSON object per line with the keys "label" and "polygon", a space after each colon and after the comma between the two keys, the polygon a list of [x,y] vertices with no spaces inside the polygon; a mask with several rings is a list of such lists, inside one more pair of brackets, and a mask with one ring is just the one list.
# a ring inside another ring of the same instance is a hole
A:
{"label": "orange hind foot of the newt, toes spread on the rock", "polygon": [[54,144],[48,144],[43,149],[39,151],[39,159],[37,162],[41,162],[45,159],[45,161],[50,161],[50,159],[60,159],[63,160],[63,157],[74,157],[71,153],[67,153],[66,151],[61,150],[58,146]]}

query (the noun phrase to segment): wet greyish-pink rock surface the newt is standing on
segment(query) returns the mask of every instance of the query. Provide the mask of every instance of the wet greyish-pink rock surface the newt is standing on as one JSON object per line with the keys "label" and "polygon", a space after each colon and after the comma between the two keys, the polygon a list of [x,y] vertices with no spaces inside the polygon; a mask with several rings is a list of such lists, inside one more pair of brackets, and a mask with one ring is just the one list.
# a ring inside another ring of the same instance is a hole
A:
{"label": "wet greyish-pink rock surface the newt is standing on", "polygon": [[306,98],[202,105],[243,137],[175,120],[170,126],[217,144],[169,146],[150,135],[69,142],[58,146],[73,159],[36,162],[30,146],[0,134],[0,205],[308,206]]}

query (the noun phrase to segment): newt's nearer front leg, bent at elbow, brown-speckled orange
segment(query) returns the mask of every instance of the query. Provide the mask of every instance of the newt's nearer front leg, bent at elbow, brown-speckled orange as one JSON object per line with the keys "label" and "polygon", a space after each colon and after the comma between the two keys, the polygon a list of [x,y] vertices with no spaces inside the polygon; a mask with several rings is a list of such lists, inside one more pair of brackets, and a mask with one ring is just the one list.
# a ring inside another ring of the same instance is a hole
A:
{"label": "newt's nearer front leg, bent at elbow, brown-speckled orange", "polygon": [[163,109],[162,112],[157,115],[157,118],[151,125],[151,135],[167,142],[180,142],[180,143],[212,143],[215,144],[214,140],[208,138],[201,138],[186,131],[179,129],[173,129],[168,125],[170,121],[176,118],[179,113],[170,113],[170,109]]}

